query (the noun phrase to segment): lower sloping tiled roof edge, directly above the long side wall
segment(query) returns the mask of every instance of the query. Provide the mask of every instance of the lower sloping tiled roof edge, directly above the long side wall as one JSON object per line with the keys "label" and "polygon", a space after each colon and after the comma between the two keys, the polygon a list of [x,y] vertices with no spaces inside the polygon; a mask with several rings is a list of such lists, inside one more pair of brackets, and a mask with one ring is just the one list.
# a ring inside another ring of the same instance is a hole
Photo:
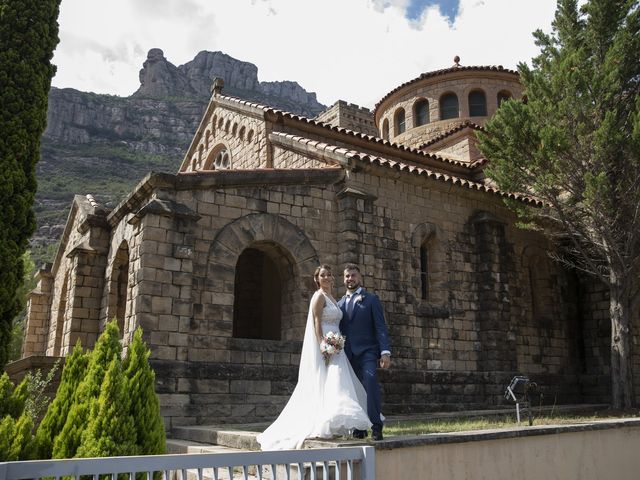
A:
{"label": "lower sloping tiled roof edge, directly above the long side wall", "polygon": [[491,187],[489,185],[485,185],[483,183],[480,182],[475,182],[472,180],[467,180],[464,178],[460,178],[460,177],[456,177],[454,175],[448,175],[445,173],[440,173],[440,172],[434,172],[433,170],[430,170],[428,168],[423,168],[423,167],[417,167],[414,165],[408,165],[406,163],[400,162],[400,161],[396,161],[396,160],[391,160],[388,158],[384,158],[384,157],[378,157],[375,155],[369,155],[367,153],[364,152],[358,152],[356,150],[349,150],[343,147],[338,147],[335,145],[328,145],[322,142],[317,142],[315,140],[311,140],[308,138],[304,138],[304,137],[300,137],[297,135],[292,135],[292,134],[288,134],[288,133],[283,133],[283,132],[273,132],[273,135],[278,135],[296,142],[299,142],[303,145],[309,145],[309,146],[313,146],[313,147],[317,147],[319,149],[322,149],[324,151],[330,151],[333,152],[335,154],[338,155],[343,155],[344,157],[346,157],[347,159],[355,159],[361,162],[365,162],[365,163],[369,163],[371,165],[380,165],[382,167],[386,167],[386,168],[392,168],[394,170],[397,170],[399,172],[406,172],[406,173],[411,173],[414,175],[420,175],[426,178],[430,178],[433,180],[437,180],[437,181],[441,181],[441,182],[445,182],[445,183],[450,183],[453,185],[457,185],[463,188],[468,188],[470,190],[478,190],[480,192],[487,192],[487,193],[491,193],[494,195],[498,195],[504,198],[511,198],[514,200],[518,200],[521,201],[523,203],[527,203],[530,205],[534,205],[534,206],[542,206],[543,203],[540,200],[537,200],[535,198],[532,197],[527,197],[524,195],[519,195],[519,194],[514,194],[514,193],[508,193],[508,192],[503,192],[497,188]]}

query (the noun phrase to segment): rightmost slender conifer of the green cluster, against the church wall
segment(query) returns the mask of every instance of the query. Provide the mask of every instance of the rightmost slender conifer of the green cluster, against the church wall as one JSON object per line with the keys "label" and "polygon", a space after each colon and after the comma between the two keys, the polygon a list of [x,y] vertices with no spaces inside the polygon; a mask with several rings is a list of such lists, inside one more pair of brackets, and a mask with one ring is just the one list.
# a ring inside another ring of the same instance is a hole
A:
{"label": "rightmost slender conifer of the green cluster, against the church wall", "polygon": [[164,423],[155,392],[155,373],[149,365],[150,354],[142,340],[142,329],[138,328],[124,361],[124,375],[141,455],[165,453]]}

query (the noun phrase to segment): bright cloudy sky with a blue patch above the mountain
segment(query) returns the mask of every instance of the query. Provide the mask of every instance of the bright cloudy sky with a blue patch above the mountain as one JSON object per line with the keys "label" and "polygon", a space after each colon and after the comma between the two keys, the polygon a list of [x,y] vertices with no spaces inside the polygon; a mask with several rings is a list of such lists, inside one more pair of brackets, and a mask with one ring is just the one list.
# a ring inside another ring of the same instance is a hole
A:
{"label": "bright cloudy sky with a blue patch above the mountain", "polygon": [[292,80],[318,101],[372,108],[423,72],[515,69],[538,53],[555,0],[62,0],[52,84],[129,96],[152,48],[179,66],[202,50]]}

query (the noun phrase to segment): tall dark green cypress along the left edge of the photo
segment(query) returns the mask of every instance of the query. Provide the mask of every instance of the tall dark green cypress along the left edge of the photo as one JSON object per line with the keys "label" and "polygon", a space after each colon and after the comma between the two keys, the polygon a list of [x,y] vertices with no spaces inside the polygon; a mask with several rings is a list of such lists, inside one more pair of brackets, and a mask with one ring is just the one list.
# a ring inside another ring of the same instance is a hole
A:
{"label": "tall dark green cypress along the left edge of the photo", "polygon": [[7,361],[22,254],[35,230],[35,166],[47,119],[60,0],[0,0],[0,367]]}

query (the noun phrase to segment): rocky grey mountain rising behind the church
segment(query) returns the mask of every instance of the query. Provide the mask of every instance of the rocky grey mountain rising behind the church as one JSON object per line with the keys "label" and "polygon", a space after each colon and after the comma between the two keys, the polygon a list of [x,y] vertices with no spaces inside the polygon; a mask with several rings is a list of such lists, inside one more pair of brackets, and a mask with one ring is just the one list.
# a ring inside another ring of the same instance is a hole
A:
{"label": "rocky grey mountain rising behind the church", "polygon": [[116,97],[52,88],[37,165],[38,231],[33,245],[56,242],[74,194],[115,206],[149,171],[177,171],[201,120],[213,77],[224,93],[314,117],[315,93],[292,81],[260,82],[258,68],[222,52],[200,52],[180,66],[151,49],[140,88]]}

